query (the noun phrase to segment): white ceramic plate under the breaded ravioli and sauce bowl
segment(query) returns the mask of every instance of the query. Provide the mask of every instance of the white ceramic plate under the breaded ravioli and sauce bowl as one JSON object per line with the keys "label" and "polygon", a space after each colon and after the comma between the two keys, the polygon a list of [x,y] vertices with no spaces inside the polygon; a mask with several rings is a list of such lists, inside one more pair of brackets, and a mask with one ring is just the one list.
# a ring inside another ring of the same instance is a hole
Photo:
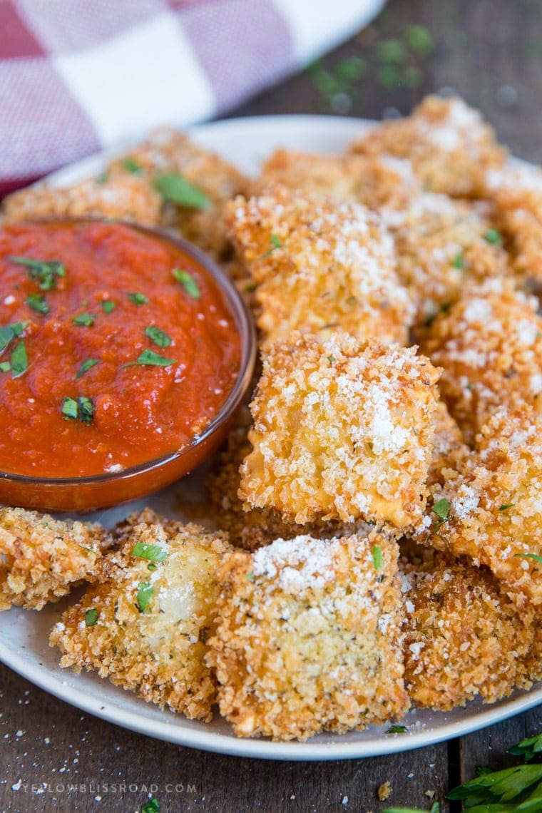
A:
{"label": "white ceramic plate under the breaded ravioli and sauce bowl", "polygon": [[[270,116],[227,120],[193,129],[193,137],[216,150],[245,172],[253,173],[261,159],[277,146],[293,150],[333,153],[358,135],[368,122],[327,116]],[[51,183],[72,183],[99,172],[106,160],[101,154],[85,159],[51,176]],[[202,493],[202,473],[195,473],[165,489],[149,500],[141,500],[103,511],[95,519],[108,526],[145,502],[156,511],[179,516],[180,501],[197,502]],[[267,740],[241,740],[234,737],[228,724],[215,715],[210,724],[186,720],[183,715],[160,711],[119,689],[93,673],[76,675],[58,665],[59,653],[47,644],[50,628],[70,602],[47,606],[43,611],[12,609],[0,613],[0,659],[33,683],[83,711],[102,717],[151,737],[223,754],[262,759],[351,759],[427,746],[491,725],[526,711],[542,702],[542,685],[530,692],[515,693],[513,698],[483,706],[470,702],[466,708],[449,714],[411,711],[402,722],[406,734],[386,734],[388,726],[371,726],[363,732],[337,736],[321,734],[308,742],[277,743]]]}

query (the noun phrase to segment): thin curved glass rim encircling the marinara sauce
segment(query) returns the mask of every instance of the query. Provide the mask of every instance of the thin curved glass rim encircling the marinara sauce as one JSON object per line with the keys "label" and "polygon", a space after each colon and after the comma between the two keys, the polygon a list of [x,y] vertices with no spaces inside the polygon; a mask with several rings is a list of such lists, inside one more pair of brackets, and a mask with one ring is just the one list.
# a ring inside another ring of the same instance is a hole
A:
{"label": "thin curved glass rim encircling the marinara sauce", "polygon": [[[236,410],[236,407],[241,404],[247,389],[249,388],[250,380],[254,372],[254,365],[256,362],[257,353],[257,340],[256,328],[254,326],[254,319],[246,306],[245,301],[241,297],[241,293],[236,289],[236,285],[223,271],[209,254],[195,246],[184,237],[179,237],[167,228],[144,226],[137,223],[131,223],[128,220],[115,219],[106,221],[102,218],[83,217],[83,218],[54,218],[41,220],[21,220],[17,225],[25,224],[103,224],[109,222],[111,224],[119,224],[126,226],[136,232],[145,234],[149,237],[158,237],[160,240],[165,240],[173,243],[177,248],[184,251],[199,265],[201,265],[206,272],[219,287],[226,306],[230,311],[236,325],[237,333],[241,338],[241,359],[239,364],[239,372],[237,373],[235,384],[228,395],[228,398],[220,406],[219,411],[210,420],[209,424],[202,433],[194,435],[190,441],[181,446],[174,452],[162,454],[158,458],[152,458],[145,463],[137,463],[136,466],[128,466],[120,469],[118,472],[101,472],[99,474],[90,474],[84,476],[71,476],[71,477],[43,477],[33,476],[28,474],[16,474],[15,472],[3,472],[0,469],[0,480],[3,482],[10,481],[19,485],[32,485],[34,488],[40,486],[48,488],[66,488],[69,486],[85,486],[85,485],[101,485],[106,482],[111,482],[115,479],[130,480],[147,472],[153,472],[157,468],[161,468],[167,463],[173,463],[177,459],[181,459],[184,455],[188,454],[193,449],[204,443],[211,437],[216,429],[224,424],[230,415]],[[188,473],[188,472],[187,472]]]}

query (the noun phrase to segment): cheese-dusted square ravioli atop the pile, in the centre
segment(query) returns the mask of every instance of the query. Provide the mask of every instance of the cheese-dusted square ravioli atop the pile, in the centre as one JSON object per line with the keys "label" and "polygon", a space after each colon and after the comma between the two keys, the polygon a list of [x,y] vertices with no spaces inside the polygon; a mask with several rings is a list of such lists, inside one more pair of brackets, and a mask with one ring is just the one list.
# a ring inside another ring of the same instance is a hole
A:
{"label": "cheese-dusted square ravioli atop the pile, in the centre", "polygon": [[416,348],[336,334],[278,342],[250,408],[239,496],[288,521],[423,523],[438,372]]}

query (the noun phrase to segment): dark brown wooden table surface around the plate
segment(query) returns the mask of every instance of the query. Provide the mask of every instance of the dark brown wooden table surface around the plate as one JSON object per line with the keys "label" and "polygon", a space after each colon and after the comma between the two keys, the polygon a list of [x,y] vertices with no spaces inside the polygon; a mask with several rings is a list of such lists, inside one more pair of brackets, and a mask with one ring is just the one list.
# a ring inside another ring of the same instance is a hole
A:
{"label": "dark brown wooden table surface around the plate", "polygon": [[[412,24],[425,27],[414,40],[421,50],[414,52],[407,37]],[[427,29],[431,50],[424,47]],[[389,40],[396,44],[390,47]],[[388,44],[379,46],[382,41]],[[363,62],[345,63],[352,56]],[[345,65],[352,64],[365,76],[349,79],[347,68],[345,79]],[[380,118],[408,112],[427,92],[453,88],[483,111],[515,154],[542,162],[541,72],[537,0],[390,0],[374,26],[329,54],[323,67],[294,76],[232,115],[340,111]],[[267,762],[125,731],[81,714],[3,666],[0,698],[0,811],[21,813],[139,811],[151,785],[158,788],[161,811],[378,813],[390,805],[427,809],[434,793],[445,813],[457,810],[445,802],[445,793],[473,776],[476,765],[514,764],[505,749],[542,731],[539,706],[468,737],[405,754]],[[376,791],[386,780],[392,795],[383,804]],[[76,790],[55,791],[68,784]],[[107,793],[105,784],[126,790]]]}

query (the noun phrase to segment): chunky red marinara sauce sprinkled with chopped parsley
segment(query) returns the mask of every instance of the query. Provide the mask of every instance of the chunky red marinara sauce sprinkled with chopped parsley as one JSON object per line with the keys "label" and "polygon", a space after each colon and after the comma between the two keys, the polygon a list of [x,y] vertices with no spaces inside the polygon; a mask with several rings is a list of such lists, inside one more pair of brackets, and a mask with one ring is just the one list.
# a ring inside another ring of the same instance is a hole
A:
{"label": "chunky red marinara sauce sprinkled with chopped parsley", "polygon": [[121,471],[186,446],[228,398],[241,339],[180,247],[119,223],[0,231],[0,470]]}

